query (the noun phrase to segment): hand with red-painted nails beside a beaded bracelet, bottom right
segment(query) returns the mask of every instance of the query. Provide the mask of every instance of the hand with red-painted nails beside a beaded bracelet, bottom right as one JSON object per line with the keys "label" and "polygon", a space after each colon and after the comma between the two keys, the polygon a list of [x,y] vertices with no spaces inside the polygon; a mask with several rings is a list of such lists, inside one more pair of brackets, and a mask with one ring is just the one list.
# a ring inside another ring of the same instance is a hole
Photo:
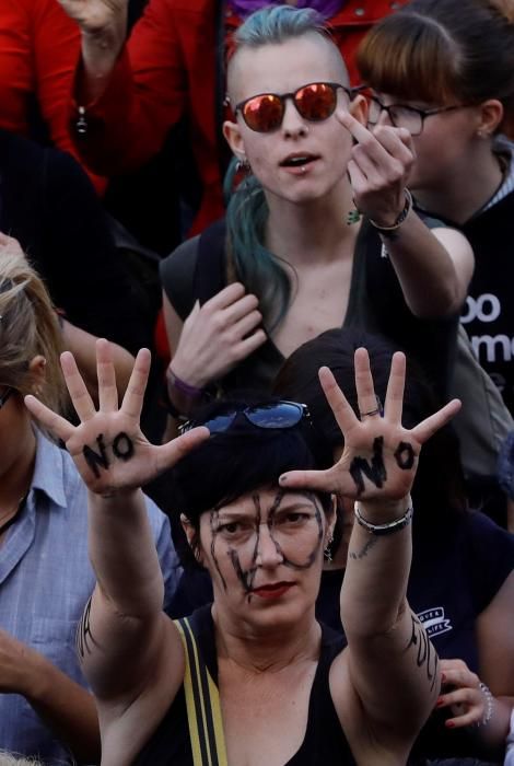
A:
{"label": "hand with red-painted nails beside a beaded bracelet, bottom right", "polygon": [[448,718],[445,722],[448,729],[460,729],[486,722],[492,697],[488,696],[480,686],[478,675],[472,673],[463,660],[441,660],[441,678],[443,688],[446,686],[452,690],[443,692],[435,707],[452,709],[453,718]]}

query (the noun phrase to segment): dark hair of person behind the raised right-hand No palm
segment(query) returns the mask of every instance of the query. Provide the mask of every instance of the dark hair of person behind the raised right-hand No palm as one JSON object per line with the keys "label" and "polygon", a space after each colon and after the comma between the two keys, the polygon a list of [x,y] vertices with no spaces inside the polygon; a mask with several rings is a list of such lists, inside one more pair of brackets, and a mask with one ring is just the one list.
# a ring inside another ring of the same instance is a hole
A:
{"label": "dark hair of person behind the raised right-hand No palm", "polygon": [[[334,450],[341,446],[342,438],[334,414],[318,380],[322,365],[330,368],[349,403],[359,411],[353,373],[353,355],[360,347],[367,349],[375,384],[375,393],[385,401],[390,360],[395,352],[390,343],[369,333],[352,329],[329,329],[301,346],[285,361],[274,383],[274,393],[304,402],[312,415],[318,438]],[[422,373],[408,360],[404,396],[402,422],[412,428],[432,415],[440,403]],[[447,426],[423,445],[412,489],[417,519],[434,529],[434,521],[448,512],[460,512],[467,507],[464,474],[458,441]],[[419,523],[418,523],[419,526]]]}

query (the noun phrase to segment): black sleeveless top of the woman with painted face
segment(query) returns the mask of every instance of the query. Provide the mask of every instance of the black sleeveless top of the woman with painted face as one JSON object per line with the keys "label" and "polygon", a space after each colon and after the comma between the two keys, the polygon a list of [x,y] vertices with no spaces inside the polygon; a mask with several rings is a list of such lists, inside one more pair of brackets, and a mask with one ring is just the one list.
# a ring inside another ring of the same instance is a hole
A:
{"label": "black sleeveless top of the woman with painted face", "polygon": [[[211,605],[197,610],[189,618],[189,623],[201,657],[214,683],[218,683]],[[357,764],[334,707],[328,685],[330,665],[343,646],[343,638],[322,624],[322,649],[311,690],[305,739],[300,750],[284,766],[319,764],[355,766]],[[155,733],[133,764],[135,766],[192,766],[184,687],[179,689]],[[220,766],[223,765],[220,764]]]}

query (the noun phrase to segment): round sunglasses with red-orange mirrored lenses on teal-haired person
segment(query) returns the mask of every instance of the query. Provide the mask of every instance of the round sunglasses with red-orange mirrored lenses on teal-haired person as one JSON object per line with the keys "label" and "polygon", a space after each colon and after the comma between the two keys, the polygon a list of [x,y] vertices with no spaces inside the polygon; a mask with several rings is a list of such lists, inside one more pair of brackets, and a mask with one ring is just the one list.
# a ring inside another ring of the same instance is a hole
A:
{"label": "round sunglasses with red-orange mirrored lenses on teal-haired person", "polygon": [[293,93],[259,93],[240,102],[234,113],[241,112],[248,128],[259,134],[277,130],[282,125],[285,102],[292,98],[299,114],[311,123],[328,119],[337,106],[337,92],[344,91],[348,98],[351,92],[338,82],[311,82]]}

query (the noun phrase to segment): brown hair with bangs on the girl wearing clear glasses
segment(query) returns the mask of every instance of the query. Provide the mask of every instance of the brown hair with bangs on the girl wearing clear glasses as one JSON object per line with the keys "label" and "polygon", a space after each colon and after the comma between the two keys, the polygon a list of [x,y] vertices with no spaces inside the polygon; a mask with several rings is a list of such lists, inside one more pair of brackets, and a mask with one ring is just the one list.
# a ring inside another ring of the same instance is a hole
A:
{"label": "brown hair with bangs on the girl wearing clear glasses", "polygon": [[365,84],[406,101],[478,105],[498,98],[514,135],[514,10],[505,0],[412,0],[365,36]]}

